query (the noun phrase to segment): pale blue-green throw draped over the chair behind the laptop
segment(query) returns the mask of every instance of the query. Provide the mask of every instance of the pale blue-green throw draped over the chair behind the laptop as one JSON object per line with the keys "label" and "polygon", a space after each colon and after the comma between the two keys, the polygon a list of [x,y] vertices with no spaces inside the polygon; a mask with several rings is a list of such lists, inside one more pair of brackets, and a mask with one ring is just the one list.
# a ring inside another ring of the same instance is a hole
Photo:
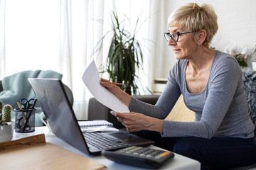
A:
{"label": "pale blue-green throw draped over the chair behind the laptop", "polygon": [[[35,98],[31,84],[28,78],[49,78],[62,79],[63,75],[51,70],[41,71],[24,71],[13,74],[2,79],[3,91],[0,93],[0,99],[5,104],[10,104],[13,108],[18,108],[17,101],[21,98]],[[39,102],[36,107],[39,107]],[[38,108],[37,108],[38,109]],[[38,111],[36,111],[38,113]]]}

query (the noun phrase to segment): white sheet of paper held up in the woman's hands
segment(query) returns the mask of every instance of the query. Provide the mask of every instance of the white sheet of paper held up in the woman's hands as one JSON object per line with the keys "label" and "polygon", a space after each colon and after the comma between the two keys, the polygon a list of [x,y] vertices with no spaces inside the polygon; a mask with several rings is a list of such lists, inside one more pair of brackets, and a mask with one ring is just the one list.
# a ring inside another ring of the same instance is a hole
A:
{"label": "white sheet of paper held up in the woman's hands", "polygon": [[130,112],[128,107],[121,103],[121,101],[119,101],[114,94],[100,85],[100,75],[98,73],[95,61],[92,61],[85,70],[85,73],[82,75],[82,81],[84,81],[85,86],[87,86],[97,101],[100,101],[100,103],[107,106],[107,108],[120,113]]}

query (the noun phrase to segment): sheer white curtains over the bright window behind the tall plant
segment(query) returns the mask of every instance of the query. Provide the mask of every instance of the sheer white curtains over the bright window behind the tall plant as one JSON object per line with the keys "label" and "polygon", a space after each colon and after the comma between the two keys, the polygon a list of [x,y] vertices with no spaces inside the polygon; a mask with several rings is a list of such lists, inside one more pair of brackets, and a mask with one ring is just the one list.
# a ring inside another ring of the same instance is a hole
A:
{"label": "sheer white curtains over the bright window behind the tall plant", "polygon": [[[161,48],[166,45],[165,1],[158,0],[0,0],[1,79],[25,69],[52,69],[63,74],[63,83],[73,91],[78,119],[87,119],[87,103],[92,97],[82,82],[86,67],[95,60],[105,64],[109,42],[95,52],[97,42],[111,27],[112,11],[125,28],[133,32],[139,17],[137,39],[144,49],[144,66],[139,72],[144,89],[152,90],[156,72],[164,62]],[[6,12],[4,7],[6,6]],[[6,22],[4,19],[6,18]],[[6,31],[4,31],[4,28]],[[94,53],[95,52],[95,53]],[[6,57],[6,61],[5,61]],[[14,62],[15,61],[15,62]],[[5,72],[6,70],[6,72]],[[103,75],[104,77],[104,75]]]}

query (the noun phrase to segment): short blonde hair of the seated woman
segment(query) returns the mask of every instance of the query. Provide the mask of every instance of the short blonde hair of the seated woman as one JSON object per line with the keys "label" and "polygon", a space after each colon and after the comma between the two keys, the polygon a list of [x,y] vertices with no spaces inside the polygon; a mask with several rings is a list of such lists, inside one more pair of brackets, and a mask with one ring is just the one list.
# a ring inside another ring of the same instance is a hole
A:
{"label": "short blonde hair of the seated woman", "polygon": [[[203,45],[209,47],[213,36],[217,33],[218,23],[217,15],[213,6],[202,4],[198,6],[196,3],[188,3],[184,6],[176,8],[168,18],[168,27],[183,26],[188,30],[206,30],[206,40]],[[194,33],[192,37],[194,38]]]}

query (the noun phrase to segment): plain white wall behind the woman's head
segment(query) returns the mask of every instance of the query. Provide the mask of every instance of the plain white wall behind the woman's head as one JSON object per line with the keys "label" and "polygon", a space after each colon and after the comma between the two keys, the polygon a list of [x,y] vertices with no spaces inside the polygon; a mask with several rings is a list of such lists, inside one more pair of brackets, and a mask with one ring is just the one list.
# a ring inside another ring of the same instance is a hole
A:
{"label": "plain white wall behind the woman's head", "polygon": [[[160,28],[161,32],[166,32],[167,18],[171,11],[175,8],[186,4],[188,0],[166,0],[164,3],[165,25]],[[193,1],[199,5],[206,3],[211,4],[215,8],[218,16],[218,32],[213,38],[212,47],[216,50],[224,51],[227,45],[238,44],[255,44],[256,43],[256,1],[255,0],[196,0]],[[164,45],[159,52],[159,60],[156,60],[154,67],[154,78],[166,78],[169,75],[169,70],[173,67],[176,59],[174,58],[171,47],[168,47],[166,41],[160,42]],[[161,65],[161,68],[159,66]]]}

